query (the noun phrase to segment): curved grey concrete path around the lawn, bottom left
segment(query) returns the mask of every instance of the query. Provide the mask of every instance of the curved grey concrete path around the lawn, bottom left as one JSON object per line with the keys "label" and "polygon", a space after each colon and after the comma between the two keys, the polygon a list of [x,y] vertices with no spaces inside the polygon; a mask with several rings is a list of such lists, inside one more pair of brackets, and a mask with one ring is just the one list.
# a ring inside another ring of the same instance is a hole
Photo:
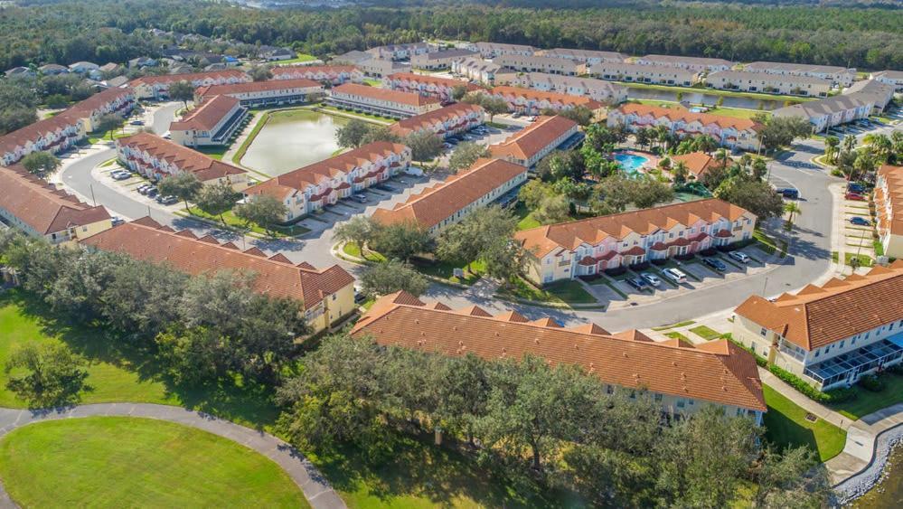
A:
{"label": "curved grey concrete path around the lawn, bottom left", "polygon": [[[229,420],[179,407],[149,403],[100,403],[52,410],[0,409],[0,438],[14,429],[35,422],[95,416],[167,420],[229,438],[275,461],[301,488],[312,507],[316,509],[345,507],[342,499],[335,494],[323,475],[296,448],[263,431],[245,428]],[[15,507],[2,487],[0,487],[0,507]]]}

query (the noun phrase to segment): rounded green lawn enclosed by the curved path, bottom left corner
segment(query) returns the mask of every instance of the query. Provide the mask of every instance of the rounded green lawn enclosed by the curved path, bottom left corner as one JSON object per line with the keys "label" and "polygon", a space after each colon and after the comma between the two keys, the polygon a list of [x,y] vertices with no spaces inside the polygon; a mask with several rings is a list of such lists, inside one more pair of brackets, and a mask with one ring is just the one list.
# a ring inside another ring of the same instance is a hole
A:
{"label": "rounded green lawn enclosed by the curved path, bottom left corner", "polygon": [[309,507],[281,467],[227,438],[155,419],[32,424],[0,442],[24,507]]}

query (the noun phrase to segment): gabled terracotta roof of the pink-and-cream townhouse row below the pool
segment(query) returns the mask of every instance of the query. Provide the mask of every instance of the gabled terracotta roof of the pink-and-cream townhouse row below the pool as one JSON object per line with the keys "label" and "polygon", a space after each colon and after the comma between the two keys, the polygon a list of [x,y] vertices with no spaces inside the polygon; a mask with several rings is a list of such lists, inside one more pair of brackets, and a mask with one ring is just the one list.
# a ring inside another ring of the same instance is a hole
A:
{"label": "gabled terracotta roof of the pink-and-cream townhouse row below the pool", "polygon": [[677,224],[689,226],[697,221],[716,222],[720,218],[736,221],[744,214],[755,221],[746,209],[717,199],[673,203],[651,209],[621,212],[574,222],[559,222],[518,231],[514,239],[525,250],[542,257],[555,249],[575,250],[580,244],[596,245],[608,237],[624,239],[630,233],[648,235],[658,230],[671,230]]}

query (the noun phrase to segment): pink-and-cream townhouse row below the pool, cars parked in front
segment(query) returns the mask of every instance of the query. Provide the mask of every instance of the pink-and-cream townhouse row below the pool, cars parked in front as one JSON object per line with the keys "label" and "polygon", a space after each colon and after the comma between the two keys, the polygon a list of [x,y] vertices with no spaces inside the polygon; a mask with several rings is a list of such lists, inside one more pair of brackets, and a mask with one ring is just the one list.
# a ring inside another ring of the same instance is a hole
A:
{"label": "pink-and-cream townhouse row below the pool, cars parked in front", "polygon": [[756,215],[721,200],[697,200],[518,231],[527,278],[538,285],[593,276],[752,238]]}

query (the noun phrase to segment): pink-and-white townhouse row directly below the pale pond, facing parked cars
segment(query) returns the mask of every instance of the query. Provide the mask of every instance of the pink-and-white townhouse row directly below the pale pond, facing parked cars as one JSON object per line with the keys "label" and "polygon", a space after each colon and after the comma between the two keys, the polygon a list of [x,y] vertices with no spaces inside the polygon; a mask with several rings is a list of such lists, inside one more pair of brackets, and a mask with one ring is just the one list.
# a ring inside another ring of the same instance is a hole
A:
{"label": "pink-and-white townhouse row directly below the pale pond, facing parked cars", "polygon": [[285,203],[284,222],[292,222],[400,174],[410,165],[410,157],[408,146],[378,141],[281,174],[244,194],[248,198],[267,194]]}

